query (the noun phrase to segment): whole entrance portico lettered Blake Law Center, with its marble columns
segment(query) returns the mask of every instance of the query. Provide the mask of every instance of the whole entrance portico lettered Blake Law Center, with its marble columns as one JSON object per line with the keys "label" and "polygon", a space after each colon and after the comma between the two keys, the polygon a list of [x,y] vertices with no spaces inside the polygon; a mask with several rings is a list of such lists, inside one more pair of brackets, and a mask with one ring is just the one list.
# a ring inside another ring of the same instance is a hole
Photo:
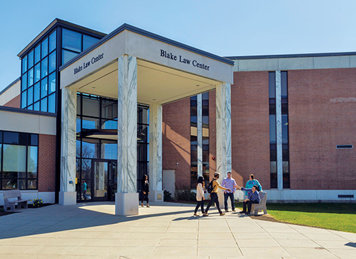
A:
{"label": "whole entrance portico lettered Blake Law Center, with its marble columns", "polygon": [[[216,90],[217,169],[231,170],[230,84],[233,61],[124,24],[60,68],[61,191],[59,203],[75,203],[77,92],[117,99],[118,215],[138,214],[137,103],[149,105],[150,200],[163,201],[163,105]],[[200,96],[200,97],[199,97]],[[201,95],[197,98],[201,113]],[[179,114],[177,114],[179,115]],[[201,118],[201,116],[197,116]],[[112,132],[92,130],[87,136]],[[197,120],[198,175],[202,174],[202,121]]]}

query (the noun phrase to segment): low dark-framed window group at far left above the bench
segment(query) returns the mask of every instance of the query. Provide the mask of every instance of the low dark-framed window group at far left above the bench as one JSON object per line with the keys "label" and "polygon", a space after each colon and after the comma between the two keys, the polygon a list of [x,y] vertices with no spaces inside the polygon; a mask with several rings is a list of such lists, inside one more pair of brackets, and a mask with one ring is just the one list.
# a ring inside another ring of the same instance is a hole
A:
{"label": "low dark-framed window group at far left above the bench", "polygon": [[39,135],[0,131],[0,189],[37,189]]}

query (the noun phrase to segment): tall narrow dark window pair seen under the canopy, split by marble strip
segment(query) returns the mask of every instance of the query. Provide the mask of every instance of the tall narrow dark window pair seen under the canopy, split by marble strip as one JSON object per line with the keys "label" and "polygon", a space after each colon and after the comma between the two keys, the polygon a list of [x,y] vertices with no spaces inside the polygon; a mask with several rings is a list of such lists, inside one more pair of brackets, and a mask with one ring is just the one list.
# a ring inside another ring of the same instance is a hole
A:
{"label": "tall narrow dark window pair seen under the canopy, split by marble strip", "polygon": [[[203,122],[203,176],[209,183],[209,93],[201,95]],[[197,96],[190,97],[190,188],[196,189],[198,176]]]}

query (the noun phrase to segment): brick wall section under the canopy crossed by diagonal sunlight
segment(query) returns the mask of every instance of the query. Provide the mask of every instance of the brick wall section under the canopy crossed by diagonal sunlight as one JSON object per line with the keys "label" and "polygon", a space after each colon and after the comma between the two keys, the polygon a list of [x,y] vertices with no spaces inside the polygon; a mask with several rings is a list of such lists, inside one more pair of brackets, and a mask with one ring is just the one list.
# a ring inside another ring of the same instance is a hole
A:
{"label": "brick wall section under the canopy crossed by diagonal sunlight", "polygon": [[190,99],[164,105],[162,119],[162,167],[175,169],[177,187],[190,186]]}

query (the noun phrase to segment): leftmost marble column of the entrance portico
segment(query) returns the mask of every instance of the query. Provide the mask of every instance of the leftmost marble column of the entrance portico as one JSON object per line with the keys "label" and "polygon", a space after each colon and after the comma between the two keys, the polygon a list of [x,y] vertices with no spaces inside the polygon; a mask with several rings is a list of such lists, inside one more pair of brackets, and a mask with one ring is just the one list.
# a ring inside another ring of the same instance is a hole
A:
{"label": "leftmost marble column of the entrance portico", "polygon": [[75,205],[77,204],[77,192],[75,191],[77,90],[65,87],[61,92],[61,185],[59,204]]}

